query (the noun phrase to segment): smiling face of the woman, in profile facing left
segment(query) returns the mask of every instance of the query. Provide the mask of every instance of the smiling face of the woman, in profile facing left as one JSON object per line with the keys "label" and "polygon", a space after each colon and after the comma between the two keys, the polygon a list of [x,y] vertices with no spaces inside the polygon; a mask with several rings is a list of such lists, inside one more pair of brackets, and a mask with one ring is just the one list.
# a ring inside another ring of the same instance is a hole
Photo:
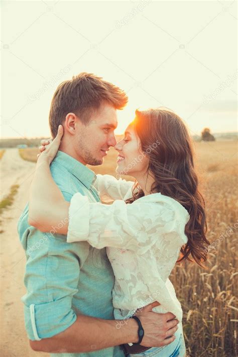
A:
{"label": "smiling face of the woman, in profile facing left", "polygon": [[116,161],[118,174],[131,175],[136,178],[139,174],[146,173],[149,158],[141,150],[141,141],[135,132],[134,123],[127,127],[123,140],[114,148],[118,152]]}

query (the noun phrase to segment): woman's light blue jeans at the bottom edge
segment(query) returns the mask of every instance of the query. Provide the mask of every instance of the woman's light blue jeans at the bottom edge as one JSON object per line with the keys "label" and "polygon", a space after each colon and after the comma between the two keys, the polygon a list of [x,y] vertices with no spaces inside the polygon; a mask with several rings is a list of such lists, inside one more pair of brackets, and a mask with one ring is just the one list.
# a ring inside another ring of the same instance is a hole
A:
{"label": "woman's light blue jeans at the bottom edge", "polygon": [[170,344],[162,347],[151,347],[144,352],[129,354],[130,357],[185,357],[186,347],[183,338],[182,324],[178,324],[175,332],[175,340]]}

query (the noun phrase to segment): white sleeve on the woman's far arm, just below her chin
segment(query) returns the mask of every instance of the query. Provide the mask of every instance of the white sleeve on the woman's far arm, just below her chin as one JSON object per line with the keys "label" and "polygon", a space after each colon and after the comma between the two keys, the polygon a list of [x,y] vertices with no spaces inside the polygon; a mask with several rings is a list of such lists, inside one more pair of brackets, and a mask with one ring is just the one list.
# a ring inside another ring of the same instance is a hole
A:
{"label": "white sleeve on the woman's far arm, just below her chin", "polygon": [[100,192],[100,198],[102,201],[112,201],[115,199],[124,199],[126,195],[130,195],[134,182],[126,181],[122,178],[116,179],[111,175],[97,175],[94,187]]}

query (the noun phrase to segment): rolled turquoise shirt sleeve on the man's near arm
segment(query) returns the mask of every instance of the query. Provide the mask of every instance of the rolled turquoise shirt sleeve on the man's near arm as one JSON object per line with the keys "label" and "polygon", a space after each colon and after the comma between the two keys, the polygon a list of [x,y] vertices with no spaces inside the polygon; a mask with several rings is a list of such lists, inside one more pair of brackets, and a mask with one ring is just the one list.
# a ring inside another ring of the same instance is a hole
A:
{"label": "rolled turquoise shirt sleeve on the man's near arm", "polygon": [[[72,197],[63,194],[67,200]],[[43,233],[32,226],[26,228],[26,221],[25,217],[18,224],[21,240],[27,242],[27,293],[22,301],[28,337],[40,340],[66,330],[77,318],[72,298],[78,292],[80,245],[70,247],[65,235],[53,234],[53,229]]]}

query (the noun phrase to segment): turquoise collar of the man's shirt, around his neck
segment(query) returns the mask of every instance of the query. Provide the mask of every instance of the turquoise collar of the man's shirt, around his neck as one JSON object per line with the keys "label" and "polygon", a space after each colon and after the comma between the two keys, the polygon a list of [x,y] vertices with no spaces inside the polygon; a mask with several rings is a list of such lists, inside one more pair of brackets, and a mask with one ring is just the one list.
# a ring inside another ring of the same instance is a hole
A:
{"label": "turquoise collar of the man's shirt, around his neck", "polygon": [[92,170],[62,151],[57,152],[53,162],[64,166],[72,175],[81,181],[87,189],[90,189],[96,180],[96,175]]}

